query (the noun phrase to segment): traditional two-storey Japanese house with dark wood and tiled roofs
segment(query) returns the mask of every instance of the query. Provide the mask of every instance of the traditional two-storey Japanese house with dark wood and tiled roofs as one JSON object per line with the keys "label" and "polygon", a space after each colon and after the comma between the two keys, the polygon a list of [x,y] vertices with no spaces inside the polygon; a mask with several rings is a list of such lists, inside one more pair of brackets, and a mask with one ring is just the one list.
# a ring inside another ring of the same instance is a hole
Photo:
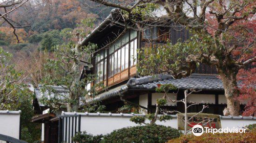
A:
{"label": "traditional two-storey Japanese house with dark wood and tiled roofs", "polygon": [[[200,64],[193,75],[182,79],[174,79],[170,75],[141,77],[137,72],[137,49],[145,45],[164,44],[167,40],[173,44],[178,40],[186,41],[189,39],[189,32],[184,27],[153,27],[144,31],[130,28],[123,33],[125,27],[123,21],[116,17],[116,11],[114,9],[110,16],[82,41],[83,45],[98,45],[97,53],[93,56],[92,71],[94,74],[101,72],[99,79],[92,84],[102,82],[105,86],[99,89],[97,96],[88,99],[88,102],[99,101],[111,112],[117,111],[124,103],[154,112],[156,100],[163,97],[163,93],[157,93],[155,88],[158,84],[170,83],[179,89],[169,93],[171,99],[183,99],[186,89],[200,90],[191,94],[188,101],[203,102],[191,107],[189,112],[198,112],[207,104],[209,108],[205,109],[204,113],[223,115],[226,99],[222,81],[217,77],[215,67]],[[177,96],[173,92],[178,92]],[[168,102],[162,108],[184,111],[182,103]]]}

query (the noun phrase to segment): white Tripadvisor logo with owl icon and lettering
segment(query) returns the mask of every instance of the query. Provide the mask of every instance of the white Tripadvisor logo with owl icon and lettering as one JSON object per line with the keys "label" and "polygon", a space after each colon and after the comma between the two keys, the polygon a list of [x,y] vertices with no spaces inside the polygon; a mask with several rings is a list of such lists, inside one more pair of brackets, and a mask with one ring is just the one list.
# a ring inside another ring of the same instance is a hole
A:
{"label": "white Tripadvisor logo with owl icon and lettering", "polygon": [[[245,133],[245,128],[240,128],[240,129],[235,129],[234,127],[233,128],[225,128],[225,129],[216,129],[216,128],[209,128],[209,127],[204,127],[205,128],[205,133],[212,133],[212,134],[215,134],[215,133]],[[204,128],[201,126],[201,125],[195,125],[193,128],[192,128],[192,133],[195,135],[195,136],[200,136],[204,133]]]}

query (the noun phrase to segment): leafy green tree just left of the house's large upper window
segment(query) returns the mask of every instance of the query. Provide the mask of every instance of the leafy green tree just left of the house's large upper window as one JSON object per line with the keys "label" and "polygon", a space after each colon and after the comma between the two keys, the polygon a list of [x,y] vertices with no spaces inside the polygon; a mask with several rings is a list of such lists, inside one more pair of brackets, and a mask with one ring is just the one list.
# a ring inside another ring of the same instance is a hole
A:
{"label": "leafy green tree just left of the house's large upper window", "polygon": [[[102,84],[95,84],[88,90],[84,89],[84,87],[87,87],[98,77],[97,75],[88,74],[80,80],[80,67],[83,64],[79,61],[86,53],[92,53],[95,47],[94,45],[84,46],[81,51],[76,52],[74,42],[55,46],[55,58],[47,59],[47,63],[44,65],[44,70],[47,72],[45,77],[42,78],[41,84],[43,85],[42,90],[48,90],[49,95],[41,99],[42,103],[51,107],[53,109],[52,111],[56,111],[66,108],[67,103],[79,105],[79,102],[83,102],[80,100],[81,97],[89,96],[89,94],[90,96],[94,96],[97,93],[96,88],[101,87]],[[90,57],[88,57],[88,60],[90,62]],[[74,65],[77,68],[74,68]],[[69,90],[69,95],[63,96],[62,94],[55,93],[54,96],[50,96],[50,93],[55,91],[48,85],[62,86],[66,90]],[[84,106],[84,108],[86,108],[85,110],[91,111],[94,107]],[[97,108],[97,110],[102,110],[102,107]]]}

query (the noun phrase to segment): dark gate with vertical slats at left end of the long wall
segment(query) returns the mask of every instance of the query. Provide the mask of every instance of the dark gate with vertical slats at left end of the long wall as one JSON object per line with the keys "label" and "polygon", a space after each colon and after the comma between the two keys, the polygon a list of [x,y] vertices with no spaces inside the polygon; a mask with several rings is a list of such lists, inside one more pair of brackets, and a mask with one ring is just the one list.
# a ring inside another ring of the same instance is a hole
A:
{"label": "dark gate with vertical slats at left end of the long wall", "polygon": [[73,143],[72,137],[80,132],[81,115],[61,115],[58,118],[58,143]]}

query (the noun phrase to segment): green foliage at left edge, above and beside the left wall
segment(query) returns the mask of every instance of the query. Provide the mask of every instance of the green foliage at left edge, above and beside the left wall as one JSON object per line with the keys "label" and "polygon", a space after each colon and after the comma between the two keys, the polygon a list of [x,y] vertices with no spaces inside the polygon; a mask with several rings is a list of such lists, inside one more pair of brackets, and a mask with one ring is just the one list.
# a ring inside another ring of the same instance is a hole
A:
{"label": "green foliage at left edge, above and beside the left wall", "polygon": [[24,75],[11,64],[11,58],[10,53],[0,48],[0,110],[21,110],[22,139],[33,142],[40,138],[38,125],[31,123],[33,92],[22,83]]}

